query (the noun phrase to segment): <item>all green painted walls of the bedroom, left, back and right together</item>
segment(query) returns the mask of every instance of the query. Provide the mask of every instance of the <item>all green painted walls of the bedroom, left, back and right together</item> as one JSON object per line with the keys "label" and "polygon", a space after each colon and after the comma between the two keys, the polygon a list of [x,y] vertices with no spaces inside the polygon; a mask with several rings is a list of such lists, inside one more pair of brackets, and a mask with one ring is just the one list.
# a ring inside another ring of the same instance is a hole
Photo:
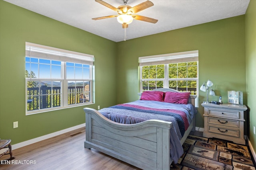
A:
{"label": "all green painted walls of the bedroom, left, back and right together", "polygon": [[[199,50],[199,84],[212,80],[223,102],[228,90],[242,90],[244,104],[248,94],[252,131],[256,124],[253,8],[251,0],[246,15],[115,43],[0,0],[0,138],[15,144],[85,122],[83,106],[25,116],[26,41],[94,55],[96,103],[88,106],[94,109],[138,99],[138,57]],[[199,92],[199,104],[204,100],[206,93]],[[204,126],[202,114],[200,106],[197,127]],[[13,121],[19,122],[18,128],[12,128]]]}

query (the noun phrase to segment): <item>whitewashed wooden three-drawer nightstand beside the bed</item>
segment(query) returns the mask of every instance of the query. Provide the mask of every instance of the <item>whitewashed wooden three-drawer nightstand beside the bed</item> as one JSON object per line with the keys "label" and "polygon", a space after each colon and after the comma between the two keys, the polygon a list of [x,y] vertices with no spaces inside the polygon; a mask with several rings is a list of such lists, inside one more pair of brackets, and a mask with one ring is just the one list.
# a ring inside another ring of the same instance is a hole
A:
{"label": "whitewashed wooden three-drawer nightstand beside the bed", "polygon": [[245,105],[204,104],[204,137],[215,137],[245,144],[244,111]]}

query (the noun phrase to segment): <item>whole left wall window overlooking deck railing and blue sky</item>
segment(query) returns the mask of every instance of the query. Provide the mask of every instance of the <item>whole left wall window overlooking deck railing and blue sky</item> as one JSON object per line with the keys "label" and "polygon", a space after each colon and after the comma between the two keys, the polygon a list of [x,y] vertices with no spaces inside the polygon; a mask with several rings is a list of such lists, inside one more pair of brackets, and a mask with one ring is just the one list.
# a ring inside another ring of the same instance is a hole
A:
{"label": "whole left wall window overlooking deck railing and blue sky", "polygon": [[94,57],[26,43],[26,114],[92,104]]}

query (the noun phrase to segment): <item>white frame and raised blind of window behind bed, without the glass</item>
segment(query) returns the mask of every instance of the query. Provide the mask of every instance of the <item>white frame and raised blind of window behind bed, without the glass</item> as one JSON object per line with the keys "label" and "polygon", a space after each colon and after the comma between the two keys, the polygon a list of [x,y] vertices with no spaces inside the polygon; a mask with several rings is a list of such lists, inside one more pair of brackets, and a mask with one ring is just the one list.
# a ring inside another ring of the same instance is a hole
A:
{"label": "white frame and raised blind of window behind bed, without the glass", "polygon": [[[169,88],[169,80],[193,80],[196,81],[196,94],[198,96],[199,81],[197,78],[169,78],[169,64],[171,63],[186,63],[186,62],[198,62],[198,50],[186,51],[180,53],[170,53],[163,55],[153,55],[146,57],[139,57],[138,63],[140,66],[140,92],[143,92],[142,81],[164,81],[164,88]],[[142,79],[142,66],[164,64],[164,77],[159,79]],[[197,75],[198,75],[198,64],[197,64]],[[177,89],[176,89],[177,90]]]}

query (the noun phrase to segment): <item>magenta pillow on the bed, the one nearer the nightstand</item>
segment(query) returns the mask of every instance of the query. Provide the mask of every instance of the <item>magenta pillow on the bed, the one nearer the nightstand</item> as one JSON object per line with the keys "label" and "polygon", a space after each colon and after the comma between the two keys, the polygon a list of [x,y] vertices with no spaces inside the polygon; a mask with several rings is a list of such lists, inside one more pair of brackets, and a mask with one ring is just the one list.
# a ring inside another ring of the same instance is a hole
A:
{"label": "magenta pillow on the bed, the one nearer the nightstand", "polygon": [[188,104],[190,92],[165,92],[164,102]]}

